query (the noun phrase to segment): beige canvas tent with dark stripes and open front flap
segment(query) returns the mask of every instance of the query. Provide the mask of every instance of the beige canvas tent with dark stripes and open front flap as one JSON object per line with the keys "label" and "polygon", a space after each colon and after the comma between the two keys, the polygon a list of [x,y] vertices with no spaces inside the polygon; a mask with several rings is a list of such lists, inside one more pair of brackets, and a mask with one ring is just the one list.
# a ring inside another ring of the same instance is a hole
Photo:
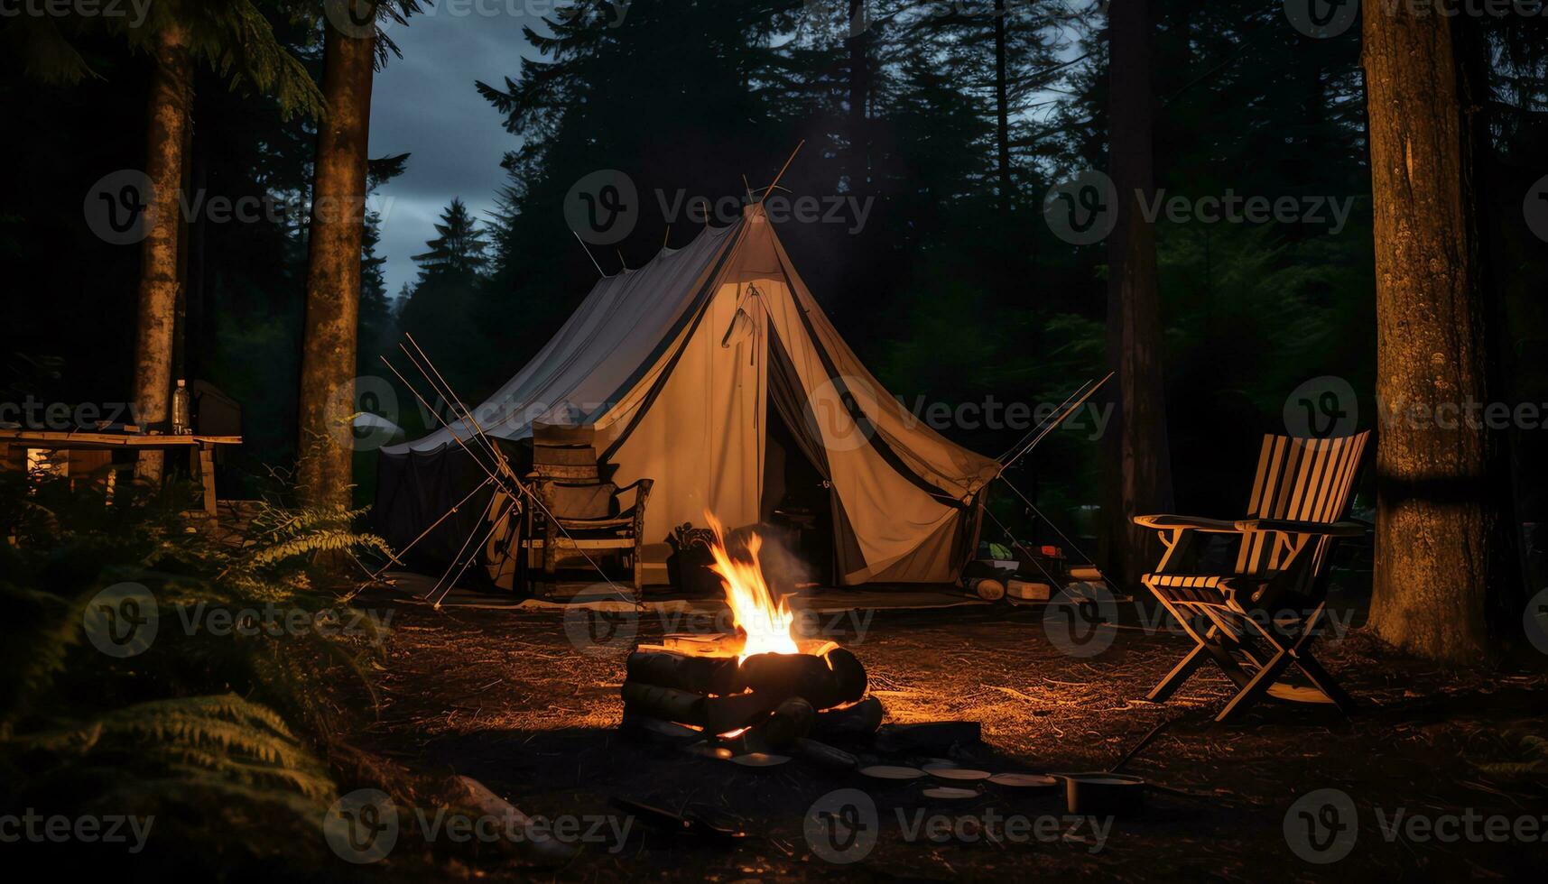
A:
{"label": "beige canvas tent with dark stripes and open front flap", "polygon": [[[680,249],[596,283],[557,334],[474,407],[492,438],[531,438],[570,415],[594,426],[619,485],[655,480],[646,542],[704,511],[763,519],[776,457],[820,475],[831,579],[955,581],[977,547],[992,458],[902,409],[861,365],[802,283],[766,214],[704,228]],[[381,452],[378,519],[412,539],[485,478],[454,423]],[[458,528],[458,531],[464,529]]]}

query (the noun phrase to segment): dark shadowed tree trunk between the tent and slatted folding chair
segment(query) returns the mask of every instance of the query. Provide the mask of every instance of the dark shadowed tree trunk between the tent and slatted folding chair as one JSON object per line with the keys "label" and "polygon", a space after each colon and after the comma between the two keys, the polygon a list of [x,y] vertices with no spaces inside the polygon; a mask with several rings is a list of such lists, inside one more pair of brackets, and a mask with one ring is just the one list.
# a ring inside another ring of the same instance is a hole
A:
{"label": "dark shadowed tree trunk between the tent and slatted folding chair", "polygon": [[1161,308],[1155,231],[1139,211],[1153,187],[1150,146],[1150,15],[1147,0],[1108,6],[1110,170],[1118,217],[1107,240],[1107,358],[1113,378],[1105,516],[1107,571],[1132,585],[1153,562],[1150,533],[1130,522],[1172,503],[1161,376]]}

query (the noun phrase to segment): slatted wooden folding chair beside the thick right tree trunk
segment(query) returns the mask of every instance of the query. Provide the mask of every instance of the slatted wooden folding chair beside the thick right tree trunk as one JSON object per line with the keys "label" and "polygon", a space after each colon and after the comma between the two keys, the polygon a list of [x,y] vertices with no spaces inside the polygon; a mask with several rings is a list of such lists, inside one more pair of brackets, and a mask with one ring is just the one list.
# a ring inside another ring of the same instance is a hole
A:
{"label": "slatted wooden folding chair beside the thick right tree trunk", "polygon": [[[1265,435],[1246,519],[1135,517],[1136,525],[1159,533],[1166,550],[1141,582],[1195,642],[1147,700],[1166,701],[1200,664],[1212,661],[1237,686],[1217,721],[1265,694],[1334,703],[1345,714],[1353,709],[1348,694],[1311,655],[1311,644],[1327,610],[1333,543],[1365,533],[1365,525],[1344,519],[1368,437]],[[1237,536],[1235,567],[1229,573],[1181,568],[1197,534]],[[1282,678],[1291,666],[1310,687]]]}

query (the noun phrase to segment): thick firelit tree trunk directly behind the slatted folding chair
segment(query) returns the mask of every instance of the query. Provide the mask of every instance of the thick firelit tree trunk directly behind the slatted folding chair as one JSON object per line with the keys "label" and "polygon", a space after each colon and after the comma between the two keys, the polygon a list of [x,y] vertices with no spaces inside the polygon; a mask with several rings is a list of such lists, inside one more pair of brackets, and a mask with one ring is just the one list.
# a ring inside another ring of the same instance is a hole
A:
{"label": "thick firelit tree trunk directly behind the slatted folding chair", "polygon": [[1488,604],[1514,557],[1502,432],[1469,420],[1489,403],[1489,311],[1452,28],[1404,6],[1364,17],[1381,418],[1370,622],[1402,650],[1463,663],[1488,652]]}

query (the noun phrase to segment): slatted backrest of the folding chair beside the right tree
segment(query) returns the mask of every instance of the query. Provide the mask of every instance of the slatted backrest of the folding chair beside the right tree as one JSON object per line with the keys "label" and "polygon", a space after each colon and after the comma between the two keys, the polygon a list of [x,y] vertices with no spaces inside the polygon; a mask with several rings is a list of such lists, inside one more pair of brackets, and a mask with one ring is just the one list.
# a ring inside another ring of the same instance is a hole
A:
{"label": "slatted backrest of the folding chair beside the right tree", "polygon": [[[1320,523],[1344,519],[1368,438],[1370,430],[1325,440],[1265,435],[1248,519]],[[1254,531],[1241,537],[1237,573],[1262,577],[1299,567],[1302,585],[1297,588],[1305,590],[1322,571],[1328,540],[1322,537],[1313,548],[1307,547],[1305,534]],[[1310,554],[1310,560],[1302,560],[1302,554]]]}

